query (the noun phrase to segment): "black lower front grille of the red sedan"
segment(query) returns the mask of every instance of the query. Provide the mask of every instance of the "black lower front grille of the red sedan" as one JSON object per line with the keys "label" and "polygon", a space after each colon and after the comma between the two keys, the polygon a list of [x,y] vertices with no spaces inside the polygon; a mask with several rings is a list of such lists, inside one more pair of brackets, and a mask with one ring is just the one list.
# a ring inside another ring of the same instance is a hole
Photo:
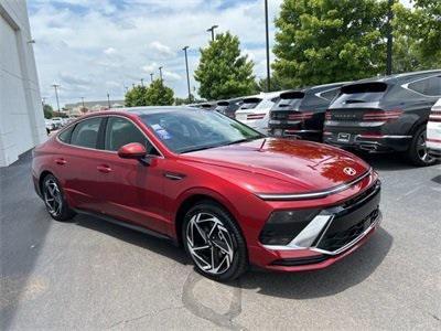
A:
{"label": "black lower front grille of the red sedan", "polygon": [[369,215],[367,215],[361,222],[354,224],[349,228],[332,234],[325,234],[320,242],[319,248],[335,252],[343,246],[349,244],[352,241],[356,239],[363,232],[365,232],[378,217],[378,209],[374,210]]}

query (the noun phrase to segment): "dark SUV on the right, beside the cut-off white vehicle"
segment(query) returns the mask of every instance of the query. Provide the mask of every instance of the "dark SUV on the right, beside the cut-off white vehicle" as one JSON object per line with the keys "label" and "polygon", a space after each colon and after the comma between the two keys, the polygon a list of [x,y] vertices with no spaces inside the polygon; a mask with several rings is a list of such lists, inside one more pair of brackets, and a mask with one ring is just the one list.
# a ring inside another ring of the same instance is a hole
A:
{"label": "dark SUV on the right, beside the cut-off white vehicle", "polygon": [[426,148],[426,126],[440,96],[441,70],[342,86],[326,111],[324,141],[369,152],[405,152],[416,166],[433,164]]}

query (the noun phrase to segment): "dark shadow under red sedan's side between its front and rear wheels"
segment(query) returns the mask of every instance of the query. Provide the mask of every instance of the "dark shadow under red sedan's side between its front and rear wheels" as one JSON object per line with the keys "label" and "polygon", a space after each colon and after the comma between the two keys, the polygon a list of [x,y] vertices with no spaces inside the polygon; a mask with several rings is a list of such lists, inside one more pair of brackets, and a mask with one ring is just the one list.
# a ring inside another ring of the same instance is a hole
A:
{"label": "dark shadow under red sedan's side between its front and rear wheels", "polygon": [[183,249],[178,248],[166,239],[157,238],[152,235],[112,224],[89,215],[76,215],[73,223],[158,253],[183,265],[186,265],[190,261]]}

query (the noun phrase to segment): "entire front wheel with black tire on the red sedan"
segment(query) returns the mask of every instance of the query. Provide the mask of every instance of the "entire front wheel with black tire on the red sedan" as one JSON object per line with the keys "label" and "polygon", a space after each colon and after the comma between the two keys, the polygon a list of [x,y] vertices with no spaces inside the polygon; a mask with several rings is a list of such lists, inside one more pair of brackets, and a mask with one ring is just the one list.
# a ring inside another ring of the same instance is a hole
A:
{"label": "entire front wheel with black tire on the red sedan", "polygon": [[182,239],[197,271],[208,278],[228,281],[247,269],[245,239],[236,221],[217,203],[204,201],[189,210]]}

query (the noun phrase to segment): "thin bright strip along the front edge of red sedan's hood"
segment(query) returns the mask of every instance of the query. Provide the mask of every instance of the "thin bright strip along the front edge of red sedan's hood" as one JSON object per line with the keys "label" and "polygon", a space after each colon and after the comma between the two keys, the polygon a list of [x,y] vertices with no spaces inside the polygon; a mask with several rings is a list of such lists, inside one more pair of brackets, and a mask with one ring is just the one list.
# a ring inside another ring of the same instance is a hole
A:
{"label": "thin bright strip along the front edge of red sedan's hood", "polygon": [[322,197],[326,197],[327,195],[347,190],[348,188],[351,188],[351,186],[355,185],[356,183],[361,182],[362,180],[364,180],[366,177],[372,175],[372,173],[373,173],[373,168],[370,167],[364,174],[362,174],[357,179],[355,179],[348,183],[337,185],[333,189],[329,189],[329,190],[324,190],[324,191],[320,191],[320,192],[292,193],[292,194],[256,193],[256,195],[258,197],[260,197],[262,200],[267,200],[267,201],[322,199]]}

